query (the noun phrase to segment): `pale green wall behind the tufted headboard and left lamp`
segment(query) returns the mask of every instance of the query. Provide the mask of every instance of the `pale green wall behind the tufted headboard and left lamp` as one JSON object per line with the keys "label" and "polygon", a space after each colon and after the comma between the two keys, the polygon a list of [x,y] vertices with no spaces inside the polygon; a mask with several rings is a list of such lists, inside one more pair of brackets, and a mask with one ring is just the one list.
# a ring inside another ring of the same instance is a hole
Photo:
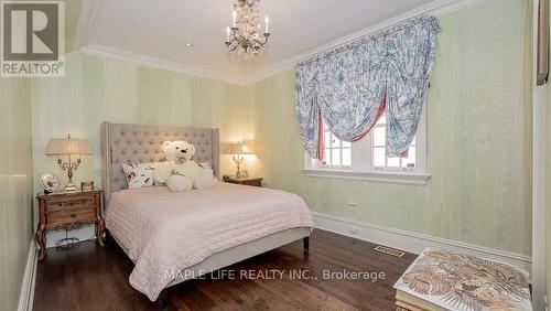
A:
{"label": "pale green wall behind the tufted headboard and left lamp", "polygon": [[[71,133],[74,138],[89,139],[94,156],[83,157],[74,181],[78,185],[83,180],[93,180],[101,186],[102,121],[202,125],[201,116],[198,121],[193,117],[192,107],[210,109],[240,101],[241,92],[235,85],[83,53],[69,53],[65,57],[64,78],[33,79],[31,85],[35,192],[42,190],[37,179],[43,173],[55,173],[64,183],[67,180],[56,163],[57,158],[44,156],[51,138]],[[62,235],[61,232],[48,234],[48,244]],[[72,235],[88,238],[93,230]]]}

